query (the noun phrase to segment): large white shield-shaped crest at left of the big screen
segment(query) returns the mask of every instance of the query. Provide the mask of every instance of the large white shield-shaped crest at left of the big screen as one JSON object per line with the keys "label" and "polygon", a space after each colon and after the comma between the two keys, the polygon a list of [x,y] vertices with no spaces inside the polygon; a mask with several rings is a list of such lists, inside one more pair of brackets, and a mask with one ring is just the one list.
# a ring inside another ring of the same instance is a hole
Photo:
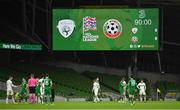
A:
{"label": "large white shield-shaped crest at left of the big screen", "polygon": [[59,33],[64,37],[68,38],[74,31],[75,23],[73,20],[64,19],[58,22],[57,28]]}

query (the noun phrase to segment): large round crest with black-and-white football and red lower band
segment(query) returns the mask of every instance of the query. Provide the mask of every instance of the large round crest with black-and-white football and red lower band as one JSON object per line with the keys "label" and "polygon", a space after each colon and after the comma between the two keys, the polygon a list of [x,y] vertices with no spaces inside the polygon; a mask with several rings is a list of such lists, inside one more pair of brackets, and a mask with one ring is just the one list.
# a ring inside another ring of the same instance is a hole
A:
{"label": "large round crest with black-and-white football and red lower band", "polygon": [[108,38],[117,38],[122,34],[122,25],[116,19],[109,19],[104,23],[103,32]]}

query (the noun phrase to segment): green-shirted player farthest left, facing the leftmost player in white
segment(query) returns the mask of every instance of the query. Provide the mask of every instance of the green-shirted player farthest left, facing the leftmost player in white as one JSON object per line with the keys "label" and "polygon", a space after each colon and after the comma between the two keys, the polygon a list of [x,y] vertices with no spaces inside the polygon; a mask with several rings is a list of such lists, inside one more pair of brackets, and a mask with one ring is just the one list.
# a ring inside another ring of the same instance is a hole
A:
{"label": "green-shirted player farthest left, facing the leftmost player in white", "polygon": [[22,78],[20,96],[23,102],[27,102],[28,91],[27,91],[27,81],[25,78]]}

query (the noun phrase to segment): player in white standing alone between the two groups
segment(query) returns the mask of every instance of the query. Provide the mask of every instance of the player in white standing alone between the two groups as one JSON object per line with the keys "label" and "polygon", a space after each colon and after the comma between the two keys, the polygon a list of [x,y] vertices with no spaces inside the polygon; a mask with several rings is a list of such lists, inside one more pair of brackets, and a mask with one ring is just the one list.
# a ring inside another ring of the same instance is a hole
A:
{"label": "player in white standing alone between the two groups", "polygon": [[99,78],[96,78],[93,82],[94,102],[99,102],[98,93],[100,91]]}

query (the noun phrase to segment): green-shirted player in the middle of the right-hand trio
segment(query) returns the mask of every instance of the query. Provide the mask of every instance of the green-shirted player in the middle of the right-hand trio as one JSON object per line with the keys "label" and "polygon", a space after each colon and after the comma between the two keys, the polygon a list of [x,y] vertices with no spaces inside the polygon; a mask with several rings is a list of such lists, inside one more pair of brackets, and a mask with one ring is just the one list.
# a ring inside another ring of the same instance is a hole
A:
{"label": "green-shirted player in the middle of the right-hand trio", "polygon": [[129,101],[131,104],[134,104],[134,95],[136,93],[137,89],[137,83],[136,80],[134,80],[132,77],[130,77],[130,80],[128,81],[128,93],[129,93]]}

